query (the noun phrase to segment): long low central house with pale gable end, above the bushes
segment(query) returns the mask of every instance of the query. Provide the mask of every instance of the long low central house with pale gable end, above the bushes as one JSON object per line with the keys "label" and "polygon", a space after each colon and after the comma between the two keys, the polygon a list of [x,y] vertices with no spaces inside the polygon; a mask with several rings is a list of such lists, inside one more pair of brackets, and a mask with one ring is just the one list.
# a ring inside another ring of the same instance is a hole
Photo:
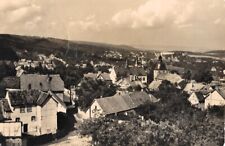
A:
{"label": "long low central house with pale gable end, above the bushes", "polygon": [[86,118],[98,118],[108,115],[125,113],[138,108],[146,102],[157,102],[153,95],[146,92],[133,92],[131,94],[116,94],[111,97],[95,99],[86,111]]}

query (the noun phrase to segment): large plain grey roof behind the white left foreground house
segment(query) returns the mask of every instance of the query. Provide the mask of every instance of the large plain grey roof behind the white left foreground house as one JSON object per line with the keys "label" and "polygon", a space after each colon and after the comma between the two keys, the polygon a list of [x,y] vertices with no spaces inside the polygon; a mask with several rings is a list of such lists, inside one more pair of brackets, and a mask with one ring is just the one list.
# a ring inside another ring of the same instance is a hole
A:
{"label": "large plain grey roof behind the white left foreground house", "polygon": [[64,82],[60,75],[24,74],[20,77],[20,88],[29,90],[63,92]]}

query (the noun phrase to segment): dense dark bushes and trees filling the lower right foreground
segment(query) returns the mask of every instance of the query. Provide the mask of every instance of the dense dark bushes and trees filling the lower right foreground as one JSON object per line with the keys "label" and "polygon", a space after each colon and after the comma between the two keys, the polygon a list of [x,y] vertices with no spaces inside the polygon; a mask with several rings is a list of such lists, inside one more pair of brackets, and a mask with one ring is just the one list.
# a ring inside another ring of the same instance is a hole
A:
{"label": "dense dark bushes and trees filling the lower right foreground", "polygon": [[[82,135],[95,145],[191,146],[223,145],[223,108],[200,111],[185,102],[185,94],[160,92],[156,104],[146,103],[129,120],[100,118],[84,122]],[[143,116],[144,119],[138,118]]]}

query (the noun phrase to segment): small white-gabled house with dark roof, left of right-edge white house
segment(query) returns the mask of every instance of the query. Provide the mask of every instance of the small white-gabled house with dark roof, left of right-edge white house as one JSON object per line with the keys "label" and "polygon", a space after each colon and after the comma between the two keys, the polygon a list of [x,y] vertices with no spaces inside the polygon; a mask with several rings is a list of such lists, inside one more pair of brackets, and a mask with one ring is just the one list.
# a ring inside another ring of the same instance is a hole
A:
{"label": "small white-gabled house with dark roof, left of right-edge white house", "polygon": [[203,109],[205,97],[201,92],[193,92],[189,97],[188,101],[192,106]]}

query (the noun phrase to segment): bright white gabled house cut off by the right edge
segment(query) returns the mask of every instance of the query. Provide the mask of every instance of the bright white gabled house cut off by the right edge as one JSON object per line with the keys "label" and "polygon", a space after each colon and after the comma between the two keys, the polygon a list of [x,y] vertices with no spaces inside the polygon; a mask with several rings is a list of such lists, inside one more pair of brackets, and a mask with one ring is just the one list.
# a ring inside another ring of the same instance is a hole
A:
{"label": "bright white gabled house cut off by the right edge", "polygon": [[220,87],[210,93],[205,99],[205,109],[212,106],[225,105],[225,87]]}

